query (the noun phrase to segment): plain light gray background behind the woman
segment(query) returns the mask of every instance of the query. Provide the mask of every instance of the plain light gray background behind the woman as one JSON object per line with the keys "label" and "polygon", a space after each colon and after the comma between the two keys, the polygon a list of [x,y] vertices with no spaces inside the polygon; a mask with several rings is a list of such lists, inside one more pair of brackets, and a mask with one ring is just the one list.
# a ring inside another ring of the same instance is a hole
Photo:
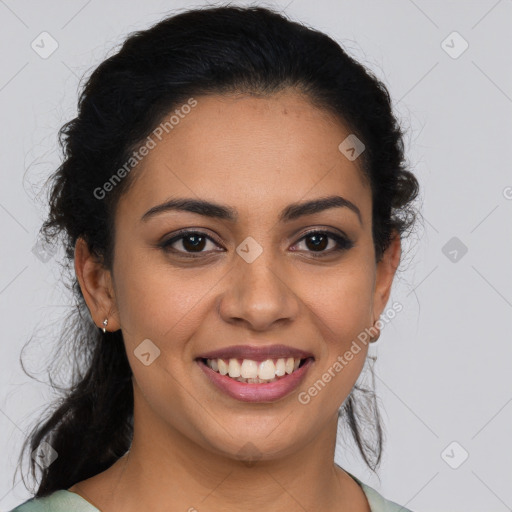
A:
{"label": "plain light gray background behind the woman", "polygon": [[[327,32],[384,81],[422,187],[423,221],[389,303],[404,309],[372,347],[387,436],[380,481],[354,448],[339,444],[336,461],[417,512],[512,510],[512,1],[259,4]],[[12,478],[52,397],[45,368],[69,301],[62,254],[45,262],[32,251],[57,130],[75,115],[79,78],[129,32],[199,5],[0,0],[0,510],[29,496]],[[46,59],[31,47],[43,31],[59,45]],[[27,369],[40,383],[19,364],[30,336]]]}

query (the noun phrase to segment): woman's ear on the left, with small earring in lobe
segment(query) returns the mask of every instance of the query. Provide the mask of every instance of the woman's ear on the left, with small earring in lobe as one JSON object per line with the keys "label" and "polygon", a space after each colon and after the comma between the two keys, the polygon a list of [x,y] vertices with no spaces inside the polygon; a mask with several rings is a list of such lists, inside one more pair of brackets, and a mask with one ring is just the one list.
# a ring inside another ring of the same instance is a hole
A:
{"label": "woman's ear on the left, with small earring in lobe", "polygon": [[108,318],[109,331],[120,329],[110,271],[91,254],[82,237],[75,244],[75,273],[94,323],[103,328],[103,320]]}

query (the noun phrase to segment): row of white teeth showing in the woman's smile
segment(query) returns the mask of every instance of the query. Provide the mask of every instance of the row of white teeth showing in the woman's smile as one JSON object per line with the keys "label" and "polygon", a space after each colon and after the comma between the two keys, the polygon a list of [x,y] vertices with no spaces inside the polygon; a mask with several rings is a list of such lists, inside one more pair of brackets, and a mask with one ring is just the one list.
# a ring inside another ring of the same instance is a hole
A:
{"label": "row of white teeth showing in the woman's smile", "polygon": [[214,372],[246,384],[276,382],[296,372],[309,359],[313,360],[312,357],[281,357],[264,361],[237,358],[198,359]]}

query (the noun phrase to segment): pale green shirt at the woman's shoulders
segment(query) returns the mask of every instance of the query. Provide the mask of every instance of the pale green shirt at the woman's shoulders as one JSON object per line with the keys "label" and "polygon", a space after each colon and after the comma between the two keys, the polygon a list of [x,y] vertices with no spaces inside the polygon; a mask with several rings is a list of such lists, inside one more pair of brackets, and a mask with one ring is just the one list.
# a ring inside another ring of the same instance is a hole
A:
{"label": "pale green shirt at the woman's shoulders", "polygon": [[[354,475],[349,474],[363,489],[372,512],[412,512],[393,501],[386,500],[372,487],[364,484]],[[100,512],[79,494],[60,489],[44,498],[32,498],[23,502],[10,512]]]}

